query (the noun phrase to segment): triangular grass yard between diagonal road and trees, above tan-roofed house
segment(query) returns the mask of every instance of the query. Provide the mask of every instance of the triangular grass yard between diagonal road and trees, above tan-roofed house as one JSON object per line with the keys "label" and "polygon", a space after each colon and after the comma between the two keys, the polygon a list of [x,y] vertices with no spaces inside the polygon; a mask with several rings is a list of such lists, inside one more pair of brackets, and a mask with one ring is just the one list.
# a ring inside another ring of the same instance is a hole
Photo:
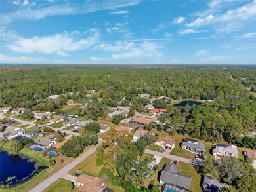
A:
{"label": "triangular grass yard between diagonal road and trees, above tan-roofed house", "polygon": [[102,166],[96,166],[96,157],[97,153],[95,151],[95,153],[85,159],[85,161],[70,170],[70,174],[75,175],[76,173],[83,173],[89,176],[98,177],[98,173],[100,172]]}

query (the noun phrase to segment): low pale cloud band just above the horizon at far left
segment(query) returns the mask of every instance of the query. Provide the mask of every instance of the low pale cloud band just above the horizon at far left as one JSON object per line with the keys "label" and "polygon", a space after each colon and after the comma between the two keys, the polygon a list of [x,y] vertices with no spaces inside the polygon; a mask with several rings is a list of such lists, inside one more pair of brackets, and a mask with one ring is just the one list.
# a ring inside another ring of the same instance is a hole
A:
{"label": "low pale cloud band just above the horizon at far left", "polygon": [[0,54],[1,64],[38,64],[45,62],[47,62],[45,58],[34,58],[26,56],[6,56],[4,54]]}

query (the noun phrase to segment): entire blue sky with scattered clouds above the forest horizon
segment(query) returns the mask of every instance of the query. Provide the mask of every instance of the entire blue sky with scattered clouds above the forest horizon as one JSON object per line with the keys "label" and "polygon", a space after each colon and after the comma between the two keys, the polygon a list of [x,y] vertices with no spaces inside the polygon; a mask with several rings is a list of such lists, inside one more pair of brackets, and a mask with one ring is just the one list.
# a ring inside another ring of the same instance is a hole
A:
{"label": "entire blue sky with scattered clouds above the forest horizon", "polygon": [[1,0],[0,63],[255,64],[256,0]]}

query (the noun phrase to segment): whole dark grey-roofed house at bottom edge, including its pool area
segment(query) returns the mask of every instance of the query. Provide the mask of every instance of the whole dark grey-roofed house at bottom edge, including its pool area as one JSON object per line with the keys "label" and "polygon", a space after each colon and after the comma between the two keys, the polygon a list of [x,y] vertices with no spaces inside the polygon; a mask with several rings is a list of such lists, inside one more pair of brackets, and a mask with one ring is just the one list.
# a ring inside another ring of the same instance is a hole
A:
{"label": "whole dark grey-roofed house at bottom edge, including its pool area", "polygon": [[[190,191],[192,177],[179,174],[177,165],[170,163],[166,164],[161,171],[160,184],[162,191]],[[169,189],[169,190],[168,190]]]}

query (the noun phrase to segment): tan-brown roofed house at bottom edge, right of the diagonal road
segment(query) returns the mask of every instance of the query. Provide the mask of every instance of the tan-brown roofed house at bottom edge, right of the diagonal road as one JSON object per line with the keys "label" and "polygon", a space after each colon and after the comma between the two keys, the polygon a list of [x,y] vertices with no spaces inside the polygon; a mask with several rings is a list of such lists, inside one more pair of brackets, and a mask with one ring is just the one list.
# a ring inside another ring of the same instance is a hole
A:
{"label": "tan-brown roofed house at bottom edge, right of the diagonal road", "polygon": [[79,192],[102,192],[106,187],[104,187],[104,182],[98,177],[88,176],[86,174],[81,174],[77,177],[74,185],[81,187]]}

